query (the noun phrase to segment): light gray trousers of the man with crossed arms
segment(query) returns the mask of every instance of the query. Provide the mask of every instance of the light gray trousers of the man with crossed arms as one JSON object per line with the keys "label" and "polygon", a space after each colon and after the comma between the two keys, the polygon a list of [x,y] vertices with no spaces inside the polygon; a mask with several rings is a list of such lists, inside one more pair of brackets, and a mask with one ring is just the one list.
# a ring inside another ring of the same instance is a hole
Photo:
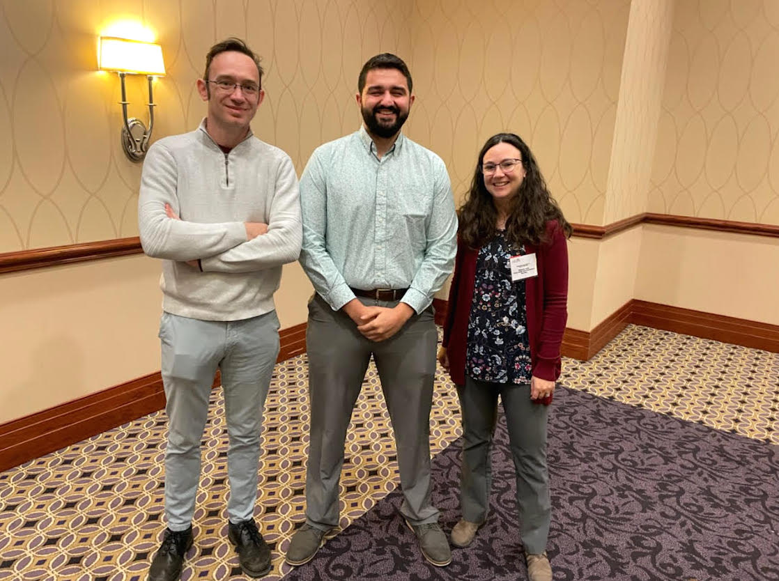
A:
{"label": "light gray trousers of the man with crossed arms", "polygon": [[279,353],[276,312],[241,321],[202,321],[163,313],[162,381],[167,403],[165,514],[171,530],[192,523],[200,479],[200,440],[213,375],[220,369],[227,416],[232,523],[251,519],[257,499],[263,406]]}

